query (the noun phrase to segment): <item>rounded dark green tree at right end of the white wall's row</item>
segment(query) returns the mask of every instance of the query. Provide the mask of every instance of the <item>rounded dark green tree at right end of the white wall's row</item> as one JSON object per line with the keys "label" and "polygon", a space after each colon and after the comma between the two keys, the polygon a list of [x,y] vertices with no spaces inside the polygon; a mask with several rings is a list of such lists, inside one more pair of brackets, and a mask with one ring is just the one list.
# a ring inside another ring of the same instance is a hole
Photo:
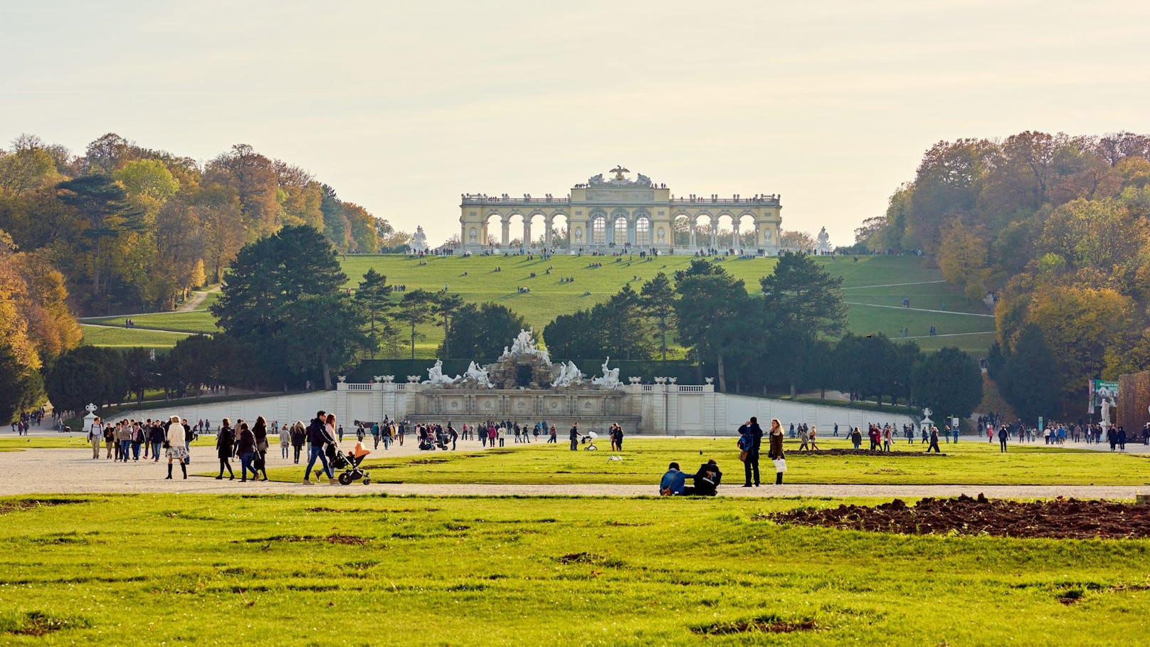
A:
{"label": "rounded dark green tree at right end of the white wall's row", "polygon": [[913,373],[914,399],[935,413],[967,418],[982,402],[979,363],[957,348],[926,356]]}

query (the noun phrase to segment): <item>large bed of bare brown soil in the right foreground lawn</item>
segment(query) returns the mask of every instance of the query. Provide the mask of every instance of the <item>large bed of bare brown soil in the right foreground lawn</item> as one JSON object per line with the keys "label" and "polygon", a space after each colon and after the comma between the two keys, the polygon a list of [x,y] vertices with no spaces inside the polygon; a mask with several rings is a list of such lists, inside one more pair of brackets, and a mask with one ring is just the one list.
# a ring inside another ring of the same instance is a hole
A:
{"label": "large bed of bare brown soil in the right foreground lawn", "polygon": [[780,524],[890,532],[898,534],[960,534],[1048,539],[1150,538],[1150,507],[1111,501],[922,498],[907,505],[900,498],[875,507],[804,508],[765,515]]}

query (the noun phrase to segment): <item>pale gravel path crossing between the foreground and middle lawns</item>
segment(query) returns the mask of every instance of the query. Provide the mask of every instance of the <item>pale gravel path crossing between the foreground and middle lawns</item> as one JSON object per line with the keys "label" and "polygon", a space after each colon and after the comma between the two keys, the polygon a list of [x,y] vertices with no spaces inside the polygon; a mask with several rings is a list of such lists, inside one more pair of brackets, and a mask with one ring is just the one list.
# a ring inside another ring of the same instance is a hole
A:
{"label": "pale gravel path crossing between the foreground and middle lawns", "polygon": [[[470,447],[471,444],[476,447]],[[462,444],[462,443],[461,443]],[[199,451],[197,451],[197,449]],[[270,465],[286,464],[273,448]],[[465,447],[460,447],[465,449]],[[478,449],[478,443],[468,442],[466,449]],[[394,447],[392,454],[414,454],[412,447]],[[382,451],[381,451],[382,454]],[[210,448],[193,449],[191,472],[215,470]],[[238,463],[238,462],[233,462]],[[236,465],[238,471],[238,464]],[[164,480],[167,460],[139,463],[114,463],[105,458],[93,459],[90,449],[30,449],[25,451],[0,451],[0,495],[23,494],[97,494],[97,493],[190,493],[190,494],[319,494],[356,495],[388,493],[394,495],[424,496],[653,496],[657,487],[635,485],[417,485],[417,484],[353,484],[351,486],[283,482],[245,484],[217,481],[206,477],[181,478],[179,469],[174,470],[174,479]],[[652,481],[658,474],[652,477]],[[964,485],[764,485],[744,488],[739,485],[723,486],[721,496],[768,497],[768,496],[876,496],[920,498],[923,496],[957,496],[979,493],[989,497],[1052,498],[1074,496],[1078,498],[1134,498],[1135,494],[1150,493],[1150,486],[964,486]]]}

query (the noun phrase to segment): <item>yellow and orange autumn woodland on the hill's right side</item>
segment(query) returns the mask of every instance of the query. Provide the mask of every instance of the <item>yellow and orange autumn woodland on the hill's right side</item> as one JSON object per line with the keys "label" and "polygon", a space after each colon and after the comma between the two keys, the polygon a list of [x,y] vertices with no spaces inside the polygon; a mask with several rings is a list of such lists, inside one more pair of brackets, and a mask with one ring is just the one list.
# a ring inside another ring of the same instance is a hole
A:
{"label": "yellow and orange autumn woodland on the hill's right side", "polygon": [[1028,418],[1150,367],[1150,136],[940,142],[856,241],[922,250],[994,307],[990,372]]}

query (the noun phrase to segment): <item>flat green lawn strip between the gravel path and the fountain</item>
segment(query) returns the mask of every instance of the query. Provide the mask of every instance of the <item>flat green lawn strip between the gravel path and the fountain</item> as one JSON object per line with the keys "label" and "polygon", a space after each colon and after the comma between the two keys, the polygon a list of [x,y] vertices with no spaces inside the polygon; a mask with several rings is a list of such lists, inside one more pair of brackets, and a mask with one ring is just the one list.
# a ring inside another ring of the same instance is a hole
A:
{"label": "flat green lawn strip between the gravel path and the fountain", "polygon": [[[825,435],[826,432],[823,433]],[[566,436],[566,433],[562,434]],[[429,451],[389,458],[382,448],[366,463],[374,482],[408,484],[629,484],[654,482],[672,460],[693,470],[714,458],[728,478],[742,482],[743,466],[734,437],[624,440],[623,460],[608,460],[610,442],[600,451],[570,451],[559,444],[515,444],[486,451]],[[820,439],[820,447],[848,447],[842,439]],[[998,443],[964,440],[943,443],[946,456],[895,458],[874,456],[810,456],[787,442],[787,481],[796,484],[867,485],[1150,485],[1150,458],[1101,451],[1012,446],[1004,456]],[[864,447],[868,444],[864,441]],[[899,442],[897,450],[921,452],[926,446]],[[773,467],[764,457],[765,471]],[[214,475],[215,472],[212,473]],[[268,471],[273,480],[299,481],[304,466]],[[368,486],[370,487],[370,486]]]}

